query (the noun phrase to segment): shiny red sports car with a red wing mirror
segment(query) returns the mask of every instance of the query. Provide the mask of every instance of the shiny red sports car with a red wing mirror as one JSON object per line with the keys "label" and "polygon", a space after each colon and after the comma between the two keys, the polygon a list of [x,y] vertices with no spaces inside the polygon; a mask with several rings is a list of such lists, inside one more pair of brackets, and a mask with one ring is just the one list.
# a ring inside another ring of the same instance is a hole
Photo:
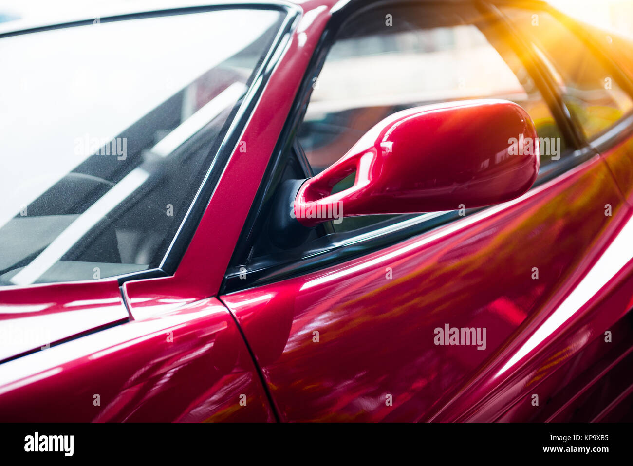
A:
{"label": "shiny red sports car with a red wing mirror", "polygon": [[630,42],[306,0],[0,44],[0,420],[633,420]]}

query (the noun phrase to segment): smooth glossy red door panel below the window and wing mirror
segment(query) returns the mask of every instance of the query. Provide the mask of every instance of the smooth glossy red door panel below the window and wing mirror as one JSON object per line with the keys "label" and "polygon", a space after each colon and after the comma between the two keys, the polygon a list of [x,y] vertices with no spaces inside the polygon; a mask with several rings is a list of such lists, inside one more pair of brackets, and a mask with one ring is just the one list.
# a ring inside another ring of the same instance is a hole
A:
{"label": "smooth glossy red door panel below the window and wing mirror", "polygon": [[[221,299],[282,420],[429,419],[555,309],[626,215],[596,156],[505,205]],[[486,328],[486,348],[434,344],[446,324]]]}

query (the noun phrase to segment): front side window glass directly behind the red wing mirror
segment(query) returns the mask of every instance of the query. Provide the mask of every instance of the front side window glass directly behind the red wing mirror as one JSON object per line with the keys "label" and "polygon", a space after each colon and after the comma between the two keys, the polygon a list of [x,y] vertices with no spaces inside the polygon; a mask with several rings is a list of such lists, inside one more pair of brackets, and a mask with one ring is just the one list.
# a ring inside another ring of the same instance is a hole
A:
{"label": "front side window glass directly behind the red wing mirror", "polygon": [[[391,113],[480,98],[520,104],[539,137],[556,140],[551,148],[556,153],[542,154],[541,165],[558,160],[565,146],[555,118],[517,53],[501,40],[498,18],[486,16],[468,6],[390,8],[344,25],[313,84],[299,127],[298,139],[313,172],[329,167]],[[345,182],[353,180],[340,184]],[[349,231],[384,218],[344,218],[334,229]]]}

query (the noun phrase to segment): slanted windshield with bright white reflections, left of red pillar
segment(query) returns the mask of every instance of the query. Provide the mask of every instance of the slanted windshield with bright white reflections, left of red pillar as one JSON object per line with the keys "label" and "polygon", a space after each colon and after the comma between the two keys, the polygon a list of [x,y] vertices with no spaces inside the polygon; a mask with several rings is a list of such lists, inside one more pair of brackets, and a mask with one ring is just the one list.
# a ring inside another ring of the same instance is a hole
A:
{"label": "slanted windshield with bright white reflections, left of red pillar", "polygon": [[223,9],[0,39],[0,285],[158,267],[280,16]]}

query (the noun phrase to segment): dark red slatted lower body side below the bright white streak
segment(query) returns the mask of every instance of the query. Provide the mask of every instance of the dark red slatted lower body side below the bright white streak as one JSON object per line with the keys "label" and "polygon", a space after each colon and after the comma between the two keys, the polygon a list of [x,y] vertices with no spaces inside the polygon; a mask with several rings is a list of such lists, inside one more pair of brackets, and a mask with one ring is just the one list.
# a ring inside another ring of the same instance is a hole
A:
{"label": "dark red slatted lower body side below the bright white streak", "polygon": [[[539,351],[510,374],[501,372],[512,358],[511,351],[506,351],[506,357],[481,368],[467,389],[450,400],[434,420],[627,420],[633,384],[633,325],[627,313],[632,307],[633,261],[629,261],[587,305],[551,332],[549,341],[539,344]],[[541,325],[546,328],[548,324]],[[530,335],[535,329],[525,333]],[[529,339],[512,349],[520,351],[521,344],[529,344]]]}

